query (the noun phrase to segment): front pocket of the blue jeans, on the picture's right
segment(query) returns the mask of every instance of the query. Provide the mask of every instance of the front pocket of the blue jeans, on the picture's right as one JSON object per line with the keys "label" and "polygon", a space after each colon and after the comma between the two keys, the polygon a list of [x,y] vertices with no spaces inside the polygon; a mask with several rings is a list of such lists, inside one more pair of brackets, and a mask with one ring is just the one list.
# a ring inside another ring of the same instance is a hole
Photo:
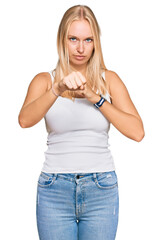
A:
{"label": "front pocket of the blue jeans, on the picture's right", "polygon": [[98,188],[112,189],[118,186],[117,175],[115,171],[96,173],[95,183]]}

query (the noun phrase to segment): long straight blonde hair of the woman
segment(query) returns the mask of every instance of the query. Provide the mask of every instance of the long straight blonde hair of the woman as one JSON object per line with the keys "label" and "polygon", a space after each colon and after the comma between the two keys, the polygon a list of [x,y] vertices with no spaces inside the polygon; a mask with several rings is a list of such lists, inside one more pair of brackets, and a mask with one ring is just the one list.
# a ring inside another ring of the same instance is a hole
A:
{"label": "long straight blonde hair of the woman", "polygon": [[[94,41],[92,56],[90,57],[86,67],[86,79],[89,79],[92,89],[97,88],[100,94],[106,94],[108,85],[102,78],[102,72],[106,70],[106,67],[100,43],[101,30],[94,13],[88,6],[85,5],[76,5],[69,8],[63,15],[60,22],[57,34],[57,50],[59,59],[56,68],[53,70],[55,71],[55,82],[59,82],[73,71],[69,64],[69,54],[67,48],[68,31],[73,21],[82,19],[89,22]],[[66,90],[61,96],[73,99],[74,91]]]}

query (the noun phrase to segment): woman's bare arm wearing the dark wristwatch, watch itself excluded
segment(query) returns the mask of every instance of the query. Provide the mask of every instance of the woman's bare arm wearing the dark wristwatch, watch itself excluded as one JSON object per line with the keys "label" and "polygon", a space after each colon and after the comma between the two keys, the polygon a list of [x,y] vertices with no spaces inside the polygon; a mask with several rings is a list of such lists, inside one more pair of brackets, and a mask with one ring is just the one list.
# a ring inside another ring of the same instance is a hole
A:
{"label": "woman's bare arm wearing the dark wristwatch, watch itself excluded", "polygon": [[[126,86],[113,71],[106,71],[106,81],[109,81],[112,104],[105,101],[99,110],[123,135],[140,142],[144,137],[143,122]],[[96,95],[92,102],[99,100],[100,97]]]}

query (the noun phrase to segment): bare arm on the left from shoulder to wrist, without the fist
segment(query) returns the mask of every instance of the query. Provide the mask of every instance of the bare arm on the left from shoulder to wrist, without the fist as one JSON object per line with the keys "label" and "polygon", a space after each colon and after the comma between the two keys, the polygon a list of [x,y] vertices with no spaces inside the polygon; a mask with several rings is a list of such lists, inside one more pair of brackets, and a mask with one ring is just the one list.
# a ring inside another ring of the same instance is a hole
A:
{"label": "bare arm on the left from shoulder to wrist, without the fist", "polygon": [[[57,96],[52,92],[50,74],[47,72],[37,74],[31,81],[18,121],[22,128],[28,128],[38,123],[56,101]],[[58,84],[53,89],[60,94]]]}

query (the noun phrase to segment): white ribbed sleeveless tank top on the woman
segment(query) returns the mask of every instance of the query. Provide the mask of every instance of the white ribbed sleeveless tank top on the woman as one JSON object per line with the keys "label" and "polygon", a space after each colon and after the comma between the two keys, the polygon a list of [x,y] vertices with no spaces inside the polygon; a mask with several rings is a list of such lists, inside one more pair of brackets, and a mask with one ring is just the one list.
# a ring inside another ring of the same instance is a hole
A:
{"label": "white ribbed sleeveless tank top on the woman", "polygon": [[[52,82],[54,72],[49,72]],[[105,72],[102,74],[105,79]],[[97,92],[98,93],[98,90]],[[107,92],[103,95],[110,102]],[[110,122],[86,98],[59,96],[44,116],[48,132],[42,171],[92,173],[114,171],[109,149]]]}

